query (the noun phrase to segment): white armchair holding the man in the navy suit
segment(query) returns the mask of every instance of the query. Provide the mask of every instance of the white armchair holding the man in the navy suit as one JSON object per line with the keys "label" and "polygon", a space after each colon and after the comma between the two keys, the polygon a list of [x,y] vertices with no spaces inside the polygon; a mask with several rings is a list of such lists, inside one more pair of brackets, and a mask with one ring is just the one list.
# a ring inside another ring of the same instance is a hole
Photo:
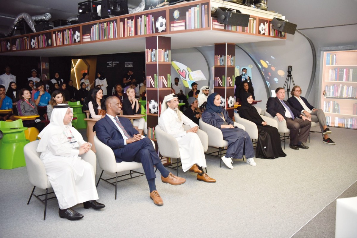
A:
{"label": "white armchair holding the man in the navy suit", "polygon": [[[94,136],[94,144],[95,144],[95,148],[97,150],[97,159],[98,159],[99,167],[102,169],[102,172],[100,174],[100,177],[98,179],[96,187],[98,187],[98,184],[99,184],[100,180],[103,180],[103,181],[115,186],[115,199],[116,199],[117,183],[118,182],[125,181],[125,180],[128,180],[128,179],[133,179],[133,178],[145,175],[144,173],[134,171],[134,169],[142,168],[142,164],[141,163],[138,163],[138,162],[135,162],[135,161],[132,161],[132,162],[122,161],[120,163],[117,163],[116,160],[115,160],[115,155],[114,155],[113,150],[109,146],[107,146],[106,144],[102,143],[97,138],[96,135]],[[155,144],[154,144],[154,148],[155,148]],[[129,174],[118,176],[119,172],[128,171],[128,170],[129,170]],[[104,171],[107,171],[107,172],[110,172],[110,173],[115,173],[115,177],[112,177],[110,179],[103,179],[102,175],[103,175]],[[139,174],[139,175],[132,176],[135,173]],[[118,178],[124,177],[124,176],[127,176],[127,175],[130,175],[130,178],[118,181]],[[109,180],[112,180],[112,179],[115,179],[115,182],[109,182]]]}

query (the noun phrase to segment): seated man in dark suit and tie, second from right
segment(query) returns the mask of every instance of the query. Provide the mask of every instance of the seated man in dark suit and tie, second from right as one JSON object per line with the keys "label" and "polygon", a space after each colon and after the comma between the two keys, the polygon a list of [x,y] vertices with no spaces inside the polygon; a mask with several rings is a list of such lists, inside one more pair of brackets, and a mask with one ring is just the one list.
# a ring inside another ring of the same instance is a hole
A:
{"label": "seated man in dark suit and tie, second from right", "polygon": [[302,142],[307,141],[311,128],[311,119],[305,117],[305,115],[291,107],[288,102],[284,101],[284,88],[277,88],[275,93],[275,98],[268,98],[267,112],[273,117],[277,116],[279,121],[286,120],[286,127],[290,129],[289,146],[291,149],[308,149],[308,146],[305,146]]}

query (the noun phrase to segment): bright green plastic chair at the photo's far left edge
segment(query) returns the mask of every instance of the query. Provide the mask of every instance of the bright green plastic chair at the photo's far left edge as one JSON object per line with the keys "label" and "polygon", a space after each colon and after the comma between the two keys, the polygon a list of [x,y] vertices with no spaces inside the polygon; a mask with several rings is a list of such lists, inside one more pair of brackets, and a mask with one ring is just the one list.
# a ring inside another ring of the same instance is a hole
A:
{"label": "bright green plastic chair at the photo's far left edge", "polygon": [[22,120],[0,121],[2,138],[0,139],[0,169],[14,169],[26,166],[24,146],[30,142],[25,138],[27,127]]}

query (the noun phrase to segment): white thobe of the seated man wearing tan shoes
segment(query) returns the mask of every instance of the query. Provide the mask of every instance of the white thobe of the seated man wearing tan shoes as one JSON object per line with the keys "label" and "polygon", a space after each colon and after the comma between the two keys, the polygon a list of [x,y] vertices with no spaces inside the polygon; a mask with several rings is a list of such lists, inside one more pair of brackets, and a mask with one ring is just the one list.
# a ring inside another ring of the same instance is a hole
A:
{"label": "white thobe of the seated man wearing tan shoes", "polygon": [[183,172],[189,170],[194,164],[207,167],[205,152],[203,151],[200,138],[196,133],[186,133],[182,126],[182,124],[185,124],[193,128],[198,125],[182,113],[181,119],[178,119],[177,113],[174,110],[167,108],[159,117],[159,125],[163,131],[174,136],[177,140]]}

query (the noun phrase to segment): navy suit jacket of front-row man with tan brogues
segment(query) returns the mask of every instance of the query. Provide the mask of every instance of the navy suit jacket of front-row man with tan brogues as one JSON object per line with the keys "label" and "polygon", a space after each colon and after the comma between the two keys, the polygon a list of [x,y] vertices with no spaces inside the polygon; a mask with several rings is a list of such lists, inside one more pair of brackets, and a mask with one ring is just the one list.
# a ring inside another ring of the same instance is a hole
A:
{"label": "navy suit jacket of front-row man with tan brogues", "polygon": [[[129,119],[119,117],[119,121],[131,137],[139,134],[139,131],[133,127]],[[97,138],[113,150],[116,161],[122,162],[121,149],[124,148],[124,138],[114,121],[105,115],[104,118],[95,123],[95,130]]]}

